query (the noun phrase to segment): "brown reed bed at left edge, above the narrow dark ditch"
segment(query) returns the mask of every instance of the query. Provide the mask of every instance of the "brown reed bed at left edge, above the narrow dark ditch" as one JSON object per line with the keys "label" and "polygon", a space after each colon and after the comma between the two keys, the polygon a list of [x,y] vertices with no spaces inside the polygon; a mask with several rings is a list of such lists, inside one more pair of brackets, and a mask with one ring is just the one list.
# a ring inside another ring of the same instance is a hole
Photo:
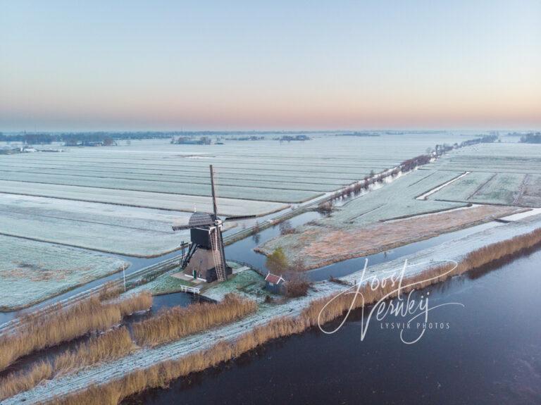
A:
{"label": "brown reed bed at left edge, above the narrow dark ditch", "polygon": [[149,292],[111,302],[92,296],[67,308],[58,304],[51,313],[25,315],[20,327],[0,337],[0,370],[33,351],[68,342],[89,332],[107,330],[118,325],[126,314],[149,309],[151,303]]}

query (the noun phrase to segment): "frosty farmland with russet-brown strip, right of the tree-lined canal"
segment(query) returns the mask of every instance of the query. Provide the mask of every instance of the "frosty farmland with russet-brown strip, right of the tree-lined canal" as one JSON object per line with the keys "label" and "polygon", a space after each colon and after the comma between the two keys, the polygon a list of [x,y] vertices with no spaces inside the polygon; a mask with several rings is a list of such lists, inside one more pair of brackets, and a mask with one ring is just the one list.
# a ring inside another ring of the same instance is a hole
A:
{"label": "frosty farmland with russet-brown strip, right of the tree-lined canal", "polygon": [[[266,242],[259,250],[268,254],[282,247],[288,257],[304,257],[310,268],[365,256],[492,220],[516,207],[540,207],[540,173],[541,145],[495,143],[456,149],[336,208],[328,218]],[[426,199],[417,199],[434,189]],[[449,211],[472,203],[493,206]],[[438,211],[449,213],[419,217]],[[385,222],[396,218],[411,220]]]}

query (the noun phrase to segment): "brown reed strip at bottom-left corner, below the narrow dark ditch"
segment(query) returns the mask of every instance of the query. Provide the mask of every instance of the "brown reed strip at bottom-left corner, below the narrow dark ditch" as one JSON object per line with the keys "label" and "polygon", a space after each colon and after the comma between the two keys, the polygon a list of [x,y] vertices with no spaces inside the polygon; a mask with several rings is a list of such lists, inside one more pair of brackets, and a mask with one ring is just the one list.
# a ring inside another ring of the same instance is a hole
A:
{"label": "brown reed strip at bottom-left corner, below the narrow dark ditch", "polygon": [[30,390],[44,380],[75,370],[92,366],[102,361],[120,359],[134,347],[130,332],[119,328],[104,335],[93,337],[75,349],[65,351],[54,361],[39,361],[30,370],[11,373],[0,380],[0,401],[19,392]]}

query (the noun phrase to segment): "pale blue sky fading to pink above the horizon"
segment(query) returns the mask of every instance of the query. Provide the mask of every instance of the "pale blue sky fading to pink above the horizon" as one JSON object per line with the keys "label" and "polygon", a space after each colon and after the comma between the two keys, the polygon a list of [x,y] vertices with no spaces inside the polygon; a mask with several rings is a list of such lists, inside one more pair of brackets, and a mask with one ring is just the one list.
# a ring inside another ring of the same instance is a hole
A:
{"label": "pale blue sky fading to pink above the horizon", "polygon": [[0,131],[541,129],[541,1],[0,0]]}

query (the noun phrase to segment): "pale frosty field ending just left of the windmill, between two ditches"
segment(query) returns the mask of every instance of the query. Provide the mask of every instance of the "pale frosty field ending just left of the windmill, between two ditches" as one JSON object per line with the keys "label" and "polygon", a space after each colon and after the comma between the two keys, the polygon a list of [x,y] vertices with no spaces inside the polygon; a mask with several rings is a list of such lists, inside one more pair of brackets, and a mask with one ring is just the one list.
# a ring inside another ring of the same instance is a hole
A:
{"label": "pale frosty field ending just left of the windmill, between two ditches", "polygon": [[0,234],[127,256],[178,249],[187,231],[171,225],[187,213],[0,194]]}

